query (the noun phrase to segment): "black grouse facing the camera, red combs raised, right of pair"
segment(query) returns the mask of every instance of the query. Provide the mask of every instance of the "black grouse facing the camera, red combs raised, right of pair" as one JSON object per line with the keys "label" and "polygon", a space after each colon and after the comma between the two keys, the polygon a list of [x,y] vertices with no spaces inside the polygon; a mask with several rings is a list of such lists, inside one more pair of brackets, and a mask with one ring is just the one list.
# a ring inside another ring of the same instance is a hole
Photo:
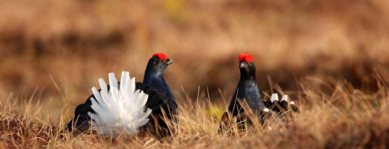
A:
{"label": "black grouse facing the camera, red combs raised, right of pair", "polygon": [[242,117],[248,115],[249,113],[256,115],[257,118],[261,118],[264,112],[270,111],[269,109],[275,112],[280,112],[283,108],[287,108],[287,103],[285,104],[286,106],[284,106],[285,101],[287,102],[287,95],[284,95],[282,98],[283,100],[281,103],[283,106],[281,107],[277,104],[277,94],[273,94],[271,101],[266,101],[265,105],[262,101],[255,77],[256,67],[253,62],[254,57],[251,54],[245,55],[244,53],[240,53],[238,59],[240,79],[237,89],[235,89],[233,94],[231,103],[228,106],[228,110],[223,113],[221,122],[226,123],[229,121],[229,118],[237,117],[237,123],[240,123],[243,120]]}

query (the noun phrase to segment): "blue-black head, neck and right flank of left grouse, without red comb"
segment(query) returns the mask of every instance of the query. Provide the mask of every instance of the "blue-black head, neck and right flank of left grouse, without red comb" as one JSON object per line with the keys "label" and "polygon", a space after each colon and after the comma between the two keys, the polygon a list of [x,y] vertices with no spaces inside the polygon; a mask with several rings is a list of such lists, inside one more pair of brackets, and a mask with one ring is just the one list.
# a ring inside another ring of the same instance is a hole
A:
{"label": "blue-black head, neck and right flank of left grouse, without red comb", "polygon": [[[173,62],[168,58],[160,59],[159,57],[152,57],[147,63],[144,74],[143,84],[149,86],[159,97],[159,101],[151,100],[150,103],[146,103],[146,106],[152,110],[152,115],[154,115],[154,117],[150,118],[149,123],[146,124],[148,125],[147,129],[156,135],[171,135],[178,129],[177,102],[172,90],[163,77],[167,66],[171,63]],[[151,129],[151,127],[155,127],[155,124],[158,124],[159,128],[155,128],[155,130]]]}

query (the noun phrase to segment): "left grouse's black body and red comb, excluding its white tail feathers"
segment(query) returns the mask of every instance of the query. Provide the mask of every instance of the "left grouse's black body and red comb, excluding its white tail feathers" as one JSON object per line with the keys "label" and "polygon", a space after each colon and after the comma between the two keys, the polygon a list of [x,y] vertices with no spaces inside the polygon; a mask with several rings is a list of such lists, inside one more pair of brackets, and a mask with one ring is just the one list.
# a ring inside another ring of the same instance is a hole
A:
{"label": "left grouse's black body and red comb, excluding its white tail feathers", "polygon": [[[172,61],[163,53],[152,55],[147,63],[143,83],[135,82],[135,91],[140,90],[148,95],[145,108],[151,110],[149,121],[139,128],[139,132],[159,140],[174,134],[179,129],[177,102],[163,78],[166,68],[171,63]],[[120,82],[118,84],[120,85]],[[107,89],[110,90],[110,85],[107,86]],[[101,89],[98,92],[101,92]],[[77,134],[77,132],[86,132],[89,129],[89,122],[91,122],[89,115],[96,113],[90,99],[96,100],[95,92],[84,104],[77,106],[74,118],[68,124],[68,131],[72,132],[72,128],[75,128],[73,132]]]}

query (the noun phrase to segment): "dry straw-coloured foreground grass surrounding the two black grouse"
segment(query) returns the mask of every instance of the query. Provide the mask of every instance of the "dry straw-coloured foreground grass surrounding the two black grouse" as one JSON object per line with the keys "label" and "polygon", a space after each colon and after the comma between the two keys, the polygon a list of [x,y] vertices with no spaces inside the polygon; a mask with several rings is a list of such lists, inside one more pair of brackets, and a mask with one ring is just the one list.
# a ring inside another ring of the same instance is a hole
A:
{"label": "dry straw-coloured foreground grass surrounding the two black grouse", "polygon": [[[377,77],[379,79],[379,77]],[[300,81],[302,82],[302,81]],[[273,85],[277,88],[277,84]],[[69,106],[51,99],[42,103],[40,96],[25,100],[12,94],[2,103],[0,143],[16,148],[387,148],[389,147],[389,90],[377,81],[378,91],[364,94],[349,82],[321,84],[330,87],[331,94],[310,90],[301,84],[298,96],[300,112],[287,113],[286,124],[217,132],[224,107],[209,103],[208,97],[192,99],[180,104],[178,135],[163,144],[154,139],[120,136],[117,139],[84,134],[77,137],[61,134],[72,115]],[[39,94],[37,94],[39,95]],[[26,102],[23,102],[26,101]],[[48,110],[42,110],[51,107]],[[58,113],[59,112],[59,113]],[[12,114],[18,113],[18,114]],[[24,116],[21,116],[24,115]],[[265,128],[265,129],[264,129]]]}

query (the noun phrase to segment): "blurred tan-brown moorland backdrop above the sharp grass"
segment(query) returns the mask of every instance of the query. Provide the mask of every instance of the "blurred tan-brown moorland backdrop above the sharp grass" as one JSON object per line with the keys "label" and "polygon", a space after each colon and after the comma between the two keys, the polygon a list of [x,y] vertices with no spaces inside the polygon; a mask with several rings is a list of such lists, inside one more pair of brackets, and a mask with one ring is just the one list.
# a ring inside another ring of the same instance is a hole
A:
{"label": "blurred tan-brown moorland backdrop above the sharp grass", "polygon": [[37,89],[75,106],[109,72],[142,81],[157,52],[181,101],[199,86],[230,97],[242,52],[262,91],[269,77],[290,94],[312,78],[374,86],[389,80],[388,26],[387,0],[0,0],[1,101]]}

